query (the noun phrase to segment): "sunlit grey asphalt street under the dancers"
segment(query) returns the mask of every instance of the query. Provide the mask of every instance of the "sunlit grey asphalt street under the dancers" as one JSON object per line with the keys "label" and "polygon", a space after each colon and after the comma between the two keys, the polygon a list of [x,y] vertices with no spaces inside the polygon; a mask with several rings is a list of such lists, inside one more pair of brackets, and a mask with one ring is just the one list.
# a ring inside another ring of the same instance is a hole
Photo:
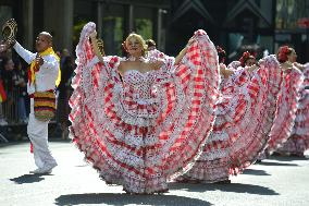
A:
{"label": "sunlit grey asphalt street under the dancers", "polygon": [[309,205],[306,158],[271,157],[232,178],[231,184],[171,183],[163,195],[128,195],[121,186],[104,184],[72,143],[51,142],[50,147],[59,166],[51,174],[37,175],[28,173],[35,169],[29,143],[0,145],[0,206]]}

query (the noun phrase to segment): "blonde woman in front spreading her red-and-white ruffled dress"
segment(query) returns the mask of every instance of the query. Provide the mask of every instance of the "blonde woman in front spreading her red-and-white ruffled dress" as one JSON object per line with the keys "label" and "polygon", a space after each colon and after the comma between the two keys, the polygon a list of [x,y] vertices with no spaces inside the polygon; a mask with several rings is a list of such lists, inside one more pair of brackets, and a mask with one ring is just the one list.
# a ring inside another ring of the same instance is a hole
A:
{"label": "blonde woman in front spreading her red-and-white ruffled dress", "polygon": [[73,142],[107,183],[127,193],[165,192],[166,180],[190,167],[212,129],[215,48],[197,31],[178,57],[151,61],[144,39],[131,34],[128,58],[102,57],[95,29],[86,24],[76,48]]}

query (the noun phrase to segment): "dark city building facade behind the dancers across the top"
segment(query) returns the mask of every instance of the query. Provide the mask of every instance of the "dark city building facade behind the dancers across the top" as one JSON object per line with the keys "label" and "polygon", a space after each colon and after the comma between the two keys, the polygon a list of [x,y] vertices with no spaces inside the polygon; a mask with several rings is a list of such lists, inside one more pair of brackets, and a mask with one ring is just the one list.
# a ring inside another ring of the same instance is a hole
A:
{"label": "dark city building facade behind the dancers across the top", "polygon": [[274,53],[293,46],[299,61],[309,61],[309,0],[0,0],[0,23],[18,23],[18,40],[34,47],[40,31],[50,32],[58,50],[74,51],[86,22],[97,24],[107,54],[121,54],[131,32],[152,38],[176,54],[194,31],[207,31],[230,60],[246,46]]}

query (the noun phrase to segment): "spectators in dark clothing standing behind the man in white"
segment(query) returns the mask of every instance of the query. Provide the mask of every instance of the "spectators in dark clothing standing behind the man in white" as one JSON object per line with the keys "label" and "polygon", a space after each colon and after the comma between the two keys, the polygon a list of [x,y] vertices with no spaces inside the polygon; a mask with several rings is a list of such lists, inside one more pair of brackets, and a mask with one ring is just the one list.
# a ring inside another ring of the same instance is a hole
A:
{"label": "spectators in dark clothing standing behind the man in white", "polygon": [[[67,49],[58,51],[61,66],[61,83],[55,88],[58,96],[57,117],[53,122],[61,131],[61,137],[69,135],[69,98],[71,80],[75,68],[74,58]],[[0,126],[26,125],[29,114],[27,95],[28,64],[9,49],[0,53]]]}

